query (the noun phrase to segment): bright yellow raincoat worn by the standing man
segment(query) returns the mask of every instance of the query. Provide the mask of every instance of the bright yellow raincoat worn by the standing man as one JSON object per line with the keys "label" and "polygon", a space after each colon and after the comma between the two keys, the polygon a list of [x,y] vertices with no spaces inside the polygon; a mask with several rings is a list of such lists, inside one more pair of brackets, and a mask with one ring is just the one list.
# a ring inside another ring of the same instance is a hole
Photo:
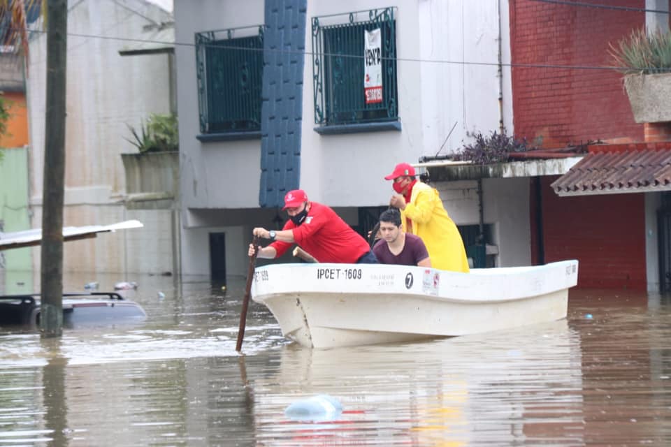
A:
{"label": "bright yellow raincoat worn by the standing man", "polygon": [[[407,225],[407,219],[412,224]],[[468,258],[459,229],[450,219],[438,191],[428,184],[417,182],[412,186],[410,203],[401,210],[401,222],[407,233],[424,241],[431,267],[454,272],[468,272]]]}

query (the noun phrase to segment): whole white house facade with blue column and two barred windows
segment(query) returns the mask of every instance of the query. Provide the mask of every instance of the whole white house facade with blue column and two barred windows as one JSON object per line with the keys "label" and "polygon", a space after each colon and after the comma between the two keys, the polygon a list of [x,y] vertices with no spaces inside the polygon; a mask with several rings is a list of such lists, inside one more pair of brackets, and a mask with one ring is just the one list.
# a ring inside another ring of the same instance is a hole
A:
{"label": "whole white house facade with blue column and two barred windows", "polygon": [[[194,43],[175,48],[186,275],[245,274],[252,228],[282,226],[290,189],[363,231],[396,163],[512,128],[505,1],[178,0],[175,23],[176,41]],[[366,74],[382,79],[368,103]],[[496,228],[511,242],[499,264],[528,264],[528,184],[493,182],[485,200],[524,222]],[[478,226],[477,182],[439,186],[456,223]]]}

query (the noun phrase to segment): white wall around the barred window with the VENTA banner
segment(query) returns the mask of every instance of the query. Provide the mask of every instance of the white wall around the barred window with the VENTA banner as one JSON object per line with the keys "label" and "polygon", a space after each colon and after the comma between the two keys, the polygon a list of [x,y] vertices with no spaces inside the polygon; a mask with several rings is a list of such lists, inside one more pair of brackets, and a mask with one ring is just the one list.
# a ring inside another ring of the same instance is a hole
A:
{"label": "white wall around the barred window with the VENTA banner", "polygon": [[[507,17],[507,1],[501,3]],[[401,132],[316,133],[313,130],[312,61],[305,61],[301,187],[312,199],[332,206],[388,203],[391,186],[384,182],[384,175],[401,161],[414,163],[420,156],[435,155],[455,122],[456,127],[440,154],[461,147],[466,140],[466,131],[489,133],[498,130],[497,2],[308,2],[308,20],[313,16],[387,6],[397,7]],[[503,60],[510,61],[507,18],[503,22]],[[310,34],[307,38],[306,47],[312,48]],[[482,63],[493,65],[479,65]],[[507,98],[512,96],[509,72],[506,68],[503,82],[503,93]],[[510,129],[512,101],[506,102],[505,98],[503,116]]]}

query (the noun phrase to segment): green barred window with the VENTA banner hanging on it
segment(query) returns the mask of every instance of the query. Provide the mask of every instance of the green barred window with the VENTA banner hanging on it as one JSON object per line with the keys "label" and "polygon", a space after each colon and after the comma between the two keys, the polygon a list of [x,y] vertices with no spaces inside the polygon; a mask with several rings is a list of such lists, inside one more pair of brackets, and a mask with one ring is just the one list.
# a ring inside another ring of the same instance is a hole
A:
{"label": "green barred window with the VENTA banner hanging on it", "polygon": [[[398,119],[395,9],[312,17],[315,124],[329,126]],[[382,38],[382,102],[366,104],[364,31],[377,28]]]}

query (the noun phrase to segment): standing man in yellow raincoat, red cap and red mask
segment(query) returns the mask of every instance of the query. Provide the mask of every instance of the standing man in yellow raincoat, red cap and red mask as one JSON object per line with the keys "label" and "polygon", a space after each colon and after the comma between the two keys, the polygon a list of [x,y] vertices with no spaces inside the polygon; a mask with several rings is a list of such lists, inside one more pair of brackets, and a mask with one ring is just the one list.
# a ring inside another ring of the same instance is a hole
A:
{"label": "standing man in yellow raincoat, red cap and red mask", "polygon": [[459,229],[450,219],[438,191],[414,177],[414,168],[399,163],[394,172],[384,177],[394,180],[389,205],[401,210],[401,221],[407,233],[424,241],[431,267],[454,272],[468,272],[468,258]]}

